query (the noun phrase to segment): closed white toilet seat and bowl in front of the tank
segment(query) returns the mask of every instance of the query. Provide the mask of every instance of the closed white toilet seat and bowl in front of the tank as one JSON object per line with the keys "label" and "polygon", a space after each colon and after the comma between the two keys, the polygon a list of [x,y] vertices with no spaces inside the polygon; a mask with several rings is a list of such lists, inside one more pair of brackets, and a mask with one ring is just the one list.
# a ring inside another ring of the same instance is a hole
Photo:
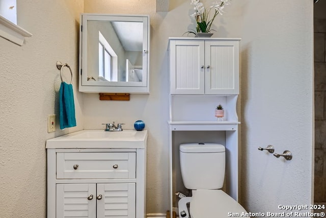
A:
{"label": "closed white toilet seat and bowl in front of the tank", "polygon": [[193,197],[190,202],[192,218],[232,217],[229,212],[238,213],[241,216],[241,213],[246,213],[246,210],[223,190],[193,190]]}

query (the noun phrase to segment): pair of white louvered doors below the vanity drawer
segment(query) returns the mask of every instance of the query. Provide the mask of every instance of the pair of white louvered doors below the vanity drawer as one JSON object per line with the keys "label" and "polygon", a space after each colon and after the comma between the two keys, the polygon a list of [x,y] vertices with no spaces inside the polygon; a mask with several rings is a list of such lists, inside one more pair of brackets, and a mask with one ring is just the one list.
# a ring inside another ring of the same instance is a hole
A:
{"label": "pair of white louvered doors below the vanity drawer", "polygon": [[57,184],[57,218],[134,218],[135,183]]}

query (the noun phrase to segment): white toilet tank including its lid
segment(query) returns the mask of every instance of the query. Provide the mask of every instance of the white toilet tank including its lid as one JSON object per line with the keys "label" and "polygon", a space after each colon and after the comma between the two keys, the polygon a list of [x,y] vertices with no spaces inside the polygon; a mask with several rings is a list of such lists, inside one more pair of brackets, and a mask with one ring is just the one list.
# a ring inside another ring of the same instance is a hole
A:
{"label": "white toilet tank including its lid", "polygon": [[188,189],[220,189],[225,175],[225,147],[215,143],[180,145],[180,168]]}

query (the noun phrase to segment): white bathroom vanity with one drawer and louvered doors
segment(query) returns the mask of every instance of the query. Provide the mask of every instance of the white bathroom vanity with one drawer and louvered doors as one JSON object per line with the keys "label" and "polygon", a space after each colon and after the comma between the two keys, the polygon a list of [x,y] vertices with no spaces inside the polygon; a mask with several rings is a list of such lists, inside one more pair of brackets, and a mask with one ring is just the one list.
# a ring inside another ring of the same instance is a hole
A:
{"label": "white bathroom vanity with one drawer and louvered doors", "polygon": [[47,217],[146,217],[146,141],[87,146],[69,135],[47,141]]}

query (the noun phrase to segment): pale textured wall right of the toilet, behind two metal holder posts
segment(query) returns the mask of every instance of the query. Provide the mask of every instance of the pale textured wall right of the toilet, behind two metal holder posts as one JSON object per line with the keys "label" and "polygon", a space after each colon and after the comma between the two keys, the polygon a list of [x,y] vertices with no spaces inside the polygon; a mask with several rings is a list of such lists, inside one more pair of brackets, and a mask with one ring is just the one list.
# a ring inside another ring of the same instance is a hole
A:
{"label": "pale textured wall right of the toilet, behind two metal holder posts", "polygon": [[[278,211],[279,204],[309,205],[313,195],[313,3],[250,3],[243,8],[241,34],[241,198],[252,212]],[[268,144],[274,145],[276,153],[290,150],[293,159],[284,161],[257,150]]]}

